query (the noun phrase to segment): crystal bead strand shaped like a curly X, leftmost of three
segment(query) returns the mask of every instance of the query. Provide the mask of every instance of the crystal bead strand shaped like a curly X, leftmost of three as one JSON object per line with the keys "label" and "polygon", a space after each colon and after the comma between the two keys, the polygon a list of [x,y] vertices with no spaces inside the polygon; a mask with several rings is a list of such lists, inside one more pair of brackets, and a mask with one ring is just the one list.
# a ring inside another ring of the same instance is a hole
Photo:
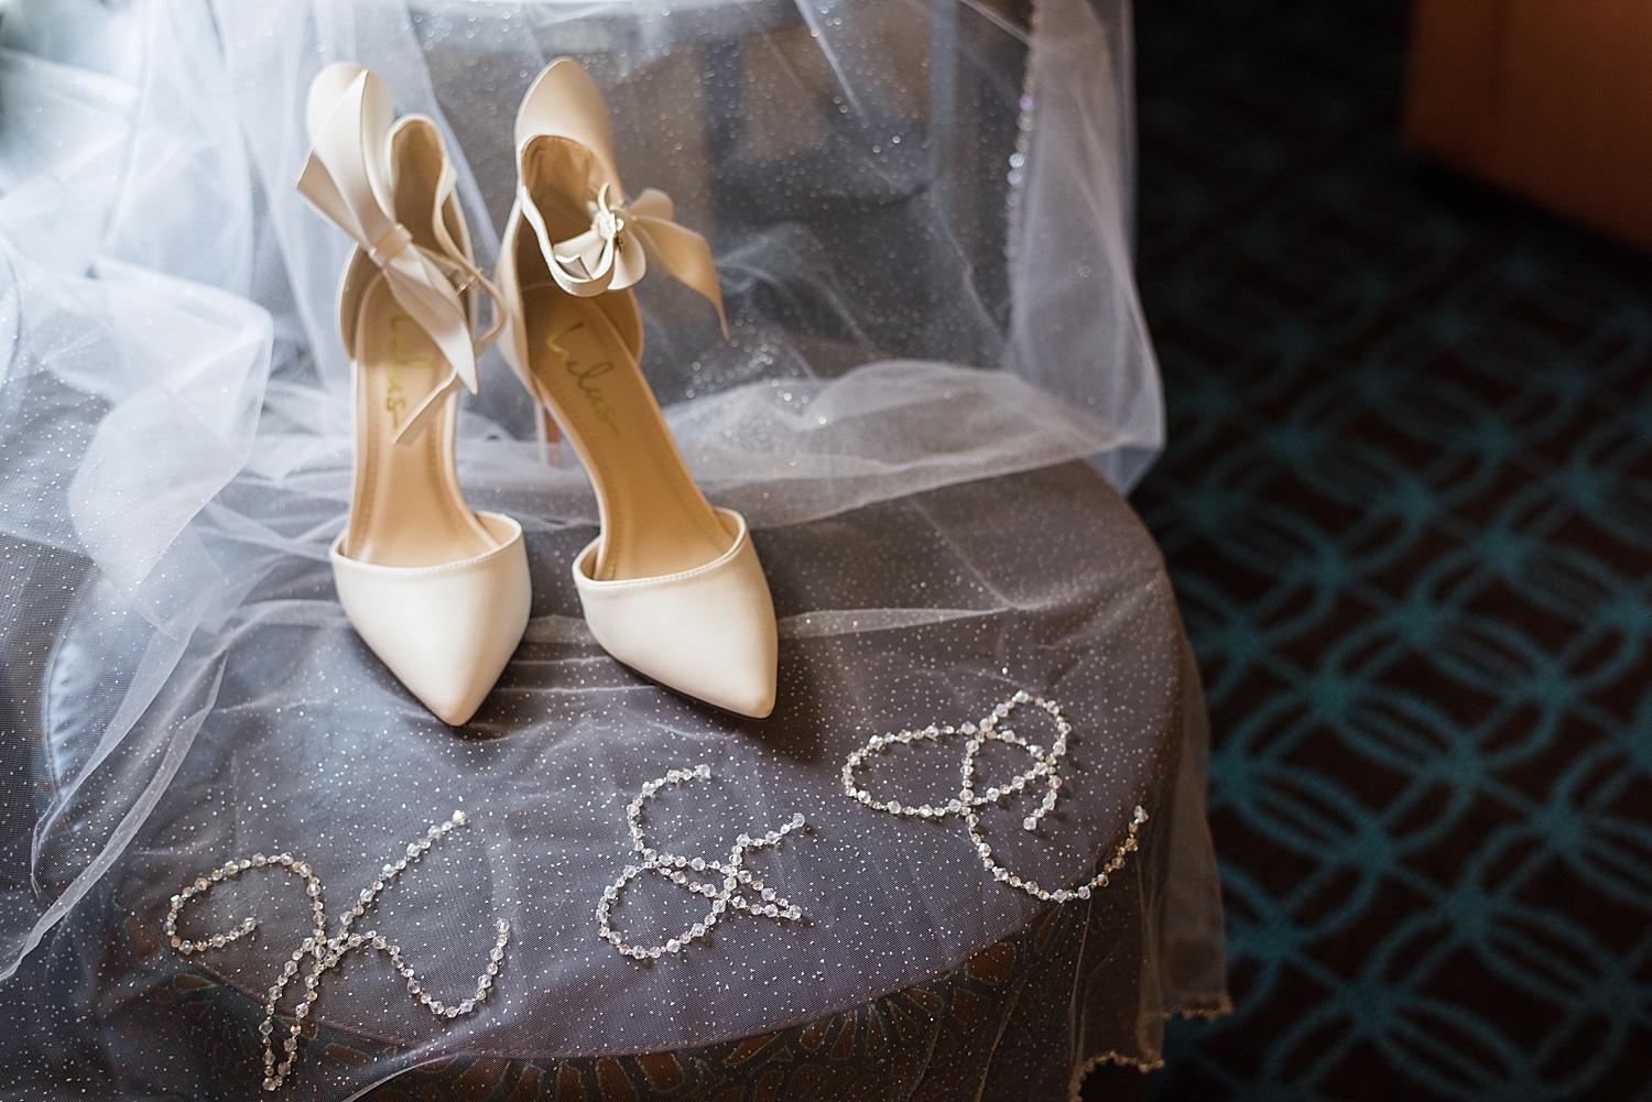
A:
{"label": "crystal bead strand shaped like a curly X, leftmost of three", "polygon": [[[446,838],[453,828],[464,824],[464,811],[454,811],[453,818],[430,828],[430,831],[426,831],[418,841],[408,843],[406,854],[396,857],[393,862],[387,862],[378,871],[378,877],[368,887],[362,889],[362,892],[355,897],[355,905],[350,907],[342,919],[339,919],[339,932],[332,937],[327,937],[327,910],[322,905],[320,881],[306,861],[294,857],[289,853],[276,854],[274,857],[254,853],[251,857],[230,861],[223,867],[213,869],[206,876],[197,879],[193,884],[172,897],[172,909],[167,912],[165,922],[167,938],[172,942],[172,948],[188,957],[208,948],[223,948],[230,942],[251,933],[258,927],[253,919],[246,919],[228,933],[213,933],[208,938],[187,940],[178,935],[178,915],[192,899],[205,895],[218,884],[233,881],[248,869],[279,869],[304,882],[304,894],[311,900],[316,932],[306,937],[304,942],[292,950],[291,960],[281,967],[281,975],[276,976],[276,981],[266,993],[264,1021],[258,1026],[258,1033],[264,1038],[264,1090],[274,1090],[286,1082],[287,1076],[292,1072],[292,1062],[297,1059],[299,1036],[304,1029],[304,1019],[309,1018],[311,1006],[317,998],[320,998],[322,973],[329,968],[335,968],[339,962],[358,948],[372,948],[388,957],[390,967],[408,981],[408,993],[421,1006],[430,1008],[430,1013],[436,1018],[451,1019],[459,1014],[469,1014],[487,1000],[487,991],[494,986],[494,978],[499,975],[501,968],[504,968],[506,943],[510,940],[509,922],[499,924],[499,935],[494,938],[494,945],[487,952],[487,965],[482,970],[482,975],[476,978],[476,991],[456,1005],[443,1003],[441,1000],[430,996],[430,991],[426,991],[420,983],[413,968],[401,958],[401,947],[392,945],[377,930],[367,930],[365,933],[350,932],[350,927],[357,919],[367,914],[367,907],[378,899],[378,894],[390,887],[410,864],[430,853],[430,848]],[[292,1008],[292,1024],[287,1028],[289,1036],[281,1043],[284,1057],[278,1062],[274,1041],[276,1005],[281,1001],[281,993],[286,990],[287,983],[297,980],[299,965],[306,957],[311,958],[311,963],[309,975],[304,976],[304,998]]]}

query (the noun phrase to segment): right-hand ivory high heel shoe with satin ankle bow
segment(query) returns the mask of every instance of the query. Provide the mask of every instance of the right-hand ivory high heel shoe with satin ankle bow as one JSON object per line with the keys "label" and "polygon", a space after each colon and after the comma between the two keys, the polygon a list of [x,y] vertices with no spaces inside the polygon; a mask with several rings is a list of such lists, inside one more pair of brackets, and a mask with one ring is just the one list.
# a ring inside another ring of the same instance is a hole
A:
{"label": "right-hand ivory high heel shoe with satin ankle bow", "polygon": [[[585,621],[616,659],[742,715],[775,707],[775,606],[745,519],[714,509],[682,464],[638,359],[628,291],[649,263],[722,317],[705,240],[656,190],[626,205],[608,109],[560,58],[515,122],[517,200],[499,251],[506,360],[573,444],[596,491],[598,535],[573,560]],[[727,332],[727,324],[725,324]]]}

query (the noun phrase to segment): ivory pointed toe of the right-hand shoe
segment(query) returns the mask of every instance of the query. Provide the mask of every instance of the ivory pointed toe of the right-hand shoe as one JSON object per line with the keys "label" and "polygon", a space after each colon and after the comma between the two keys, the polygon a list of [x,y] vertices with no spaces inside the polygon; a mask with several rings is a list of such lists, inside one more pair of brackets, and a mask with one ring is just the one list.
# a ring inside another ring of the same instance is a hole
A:
{"label": "ivory pointed toe of the right-hand shoe", "polygon": [[733,545],[695,570],[596,582],[598,540],[573,560],[585,623],[610,654],[648,677],[738,715],[775,709],[775,605],[740,514],[717,511]]}

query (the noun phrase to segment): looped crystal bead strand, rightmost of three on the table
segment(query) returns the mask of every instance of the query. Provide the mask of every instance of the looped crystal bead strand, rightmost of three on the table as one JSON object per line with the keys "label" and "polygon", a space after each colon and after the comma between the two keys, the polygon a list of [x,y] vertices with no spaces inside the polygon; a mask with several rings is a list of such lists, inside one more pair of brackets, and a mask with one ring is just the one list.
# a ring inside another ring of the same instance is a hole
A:
{"label": "looped crystal bead strand, rightmost of three on the table", "polygon": [[[1034,707],[1044,709],[1049,717],[1056,722],[1056,742],[1049,750],[1044,747],[1028,742],[1018,735],[1009,727],[1001,724],[1009,719],[1023,704],[1032,704]],[[872,808],[874,811],[887,811],[897,816],[914,816],[922,819],[940,819],[948,815],[957,815],[963,819],[970,831],[970,841],[975,843],[975,853],[981,857],[981,864],[986,866],[986,872],[1009,887],[1018,887],[1028,895],[1036,899],[1051,899],[1057,904],[1064,904],[1069,899],[1089,899],[1095,889],[1107,887],[1107,876],[1117,872],[1123,867],[1125,854],[1137,848],[1137,833],[1142,824],[1146,823],[1146,811],[1137,806],[1135,813],[1130,816],[1130,831],[1125,834],[1123,843],[1113,851],[1102,871],[1090,877],[1087,882],[1077,887],[1059,887],[1049,891],[1039,887],[1036,881],[1023,881],[1019,876],[1013,874],[1009,869],[998,864],[993,857],[993,848],[986,844],[986,839],[980,834],[980,816],[975,813],[976,808],[985,808],[988,805],[996,805],[1004,800],[1013,800],[1021,796],[1028,790],[1036,790],[1039,781],[1044,783],[1044,800],[1032,811],[1032,815],[1021,819],[1021,826],[1028,831],[1036,831],[1039,821],[1056,810],[1057,793],[1061,791],[1061,758],[1067,753],[1067,735],[1072,734],[1072,724],[1061,714],[1061,705],[1054,701],[1046,701],[1044,697],[1029,696],[1024,691],[1018,691],[1013,697],[999,704],[991,710],[991,714],[981,720],[980,725],[965,724],[963,727],[937,727],[930,724],[922,730],[902,730],[892,735],[872,735],[866,745],[849,755],[843,763],[843,790],[851,800],[857,800],[862,805]],[[897,800],[877,800],[871,791],[861,788],[856,783],[856,770],[872,755],[885,747],[895,743],[912,743],[912,742],[930,742],[945,739],[948,735],[965,735],[963,743],[963,765],[960,772],[963,780],[957,798],[948,800],[945,805],[919,805],[907,806]],[[1024,773],[1014,777],[1004,785],[988,786],[985,791],[976,793],[975,790],[975,755],[980,753],[981,747],[988,742],[1003,742],[1011,747],[1019,747],[1032,758],[1032,767]]]}

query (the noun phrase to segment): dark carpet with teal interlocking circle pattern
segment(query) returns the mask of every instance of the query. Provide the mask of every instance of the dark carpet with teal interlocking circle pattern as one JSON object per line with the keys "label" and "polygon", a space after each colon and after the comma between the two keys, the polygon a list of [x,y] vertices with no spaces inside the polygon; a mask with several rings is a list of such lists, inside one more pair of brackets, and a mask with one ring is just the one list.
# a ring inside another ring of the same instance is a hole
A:
{"label": "dark carpet with teal interlocking circle pattern", "polygon": [[1652,263],[1406,154],[1399,0],[1137,18],[1237,1003],[1150,1094],[1652,1099]]}

